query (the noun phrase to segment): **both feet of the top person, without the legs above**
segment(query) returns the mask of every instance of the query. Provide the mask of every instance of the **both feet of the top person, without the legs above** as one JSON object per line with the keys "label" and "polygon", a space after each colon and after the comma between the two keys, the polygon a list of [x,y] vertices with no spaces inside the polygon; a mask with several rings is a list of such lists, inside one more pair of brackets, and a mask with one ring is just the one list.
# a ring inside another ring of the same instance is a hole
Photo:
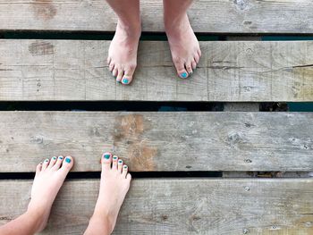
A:
{"label": "both feet of the top person, without the legs above", "polygon": [[[165,32],[177,74],[186,79],[196,69],[201,56],[199,41],[190,26],[187,13],[174,15],[173,18],[171,13],[166,13]],[[130,84],[133,79],[140,34],[140,20],[136,23],[118,21],[107,63],[116,81],[124,85]]]}

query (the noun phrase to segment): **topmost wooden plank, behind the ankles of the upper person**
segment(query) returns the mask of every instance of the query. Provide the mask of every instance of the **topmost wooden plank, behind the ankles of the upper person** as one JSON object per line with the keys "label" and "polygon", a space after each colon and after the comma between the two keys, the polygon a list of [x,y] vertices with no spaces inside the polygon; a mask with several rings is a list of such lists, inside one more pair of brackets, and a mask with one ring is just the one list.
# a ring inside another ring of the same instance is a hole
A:
{"label": "topmost wooden plank, behind the ankles of the upper person", "polygon": [[[103,0],[0,0],[0,29],[114,31]],[[144,31],[164,31],[162,1],[141,3]],[[197,32],[312,33],[311,0],[201,0],[189,11]]]}

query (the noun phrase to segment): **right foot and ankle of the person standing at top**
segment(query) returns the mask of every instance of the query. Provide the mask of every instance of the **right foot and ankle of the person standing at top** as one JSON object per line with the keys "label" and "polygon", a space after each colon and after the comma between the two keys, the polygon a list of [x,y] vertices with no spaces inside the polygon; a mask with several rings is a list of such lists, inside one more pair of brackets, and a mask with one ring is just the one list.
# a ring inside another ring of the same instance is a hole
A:
{"label": "right foot and ankle of the person standing at top", "polygon": [[178,75],[185,79],[201,56],[199,41],[190,26],[187,10],[193,0],[164,0],[165,31]]}

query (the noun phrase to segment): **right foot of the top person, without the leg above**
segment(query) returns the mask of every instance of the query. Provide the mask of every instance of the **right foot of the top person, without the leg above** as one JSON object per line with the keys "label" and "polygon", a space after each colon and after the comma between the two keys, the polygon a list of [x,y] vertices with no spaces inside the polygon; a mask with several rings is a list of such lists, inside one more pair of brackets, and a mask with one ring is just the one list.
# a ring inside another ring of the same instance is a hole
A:
{"label": "right foot of the top person, without the leg above", "polygon": [[196,69],[201,57],[199,41],[190,26],[187,13],[175,19],[165,15],[165,31],[177,74],[186,79]]}

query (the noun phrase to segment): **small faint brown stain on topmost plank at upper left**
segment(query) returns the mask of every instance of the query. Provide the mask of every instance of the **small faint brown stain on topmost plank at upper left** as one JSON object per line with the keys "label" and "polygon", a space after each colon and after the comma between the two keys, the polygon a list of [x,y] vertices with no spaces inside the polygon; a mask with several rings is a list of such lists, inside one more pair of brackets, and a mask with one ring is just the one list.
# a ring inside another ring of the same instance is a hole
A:
{"label": "small faint brown stain on topmost plank at upper left", "polygon": [[34,0],[33,9],[36,17],[45,21],[53,19],[57,12],[53,0]]}

